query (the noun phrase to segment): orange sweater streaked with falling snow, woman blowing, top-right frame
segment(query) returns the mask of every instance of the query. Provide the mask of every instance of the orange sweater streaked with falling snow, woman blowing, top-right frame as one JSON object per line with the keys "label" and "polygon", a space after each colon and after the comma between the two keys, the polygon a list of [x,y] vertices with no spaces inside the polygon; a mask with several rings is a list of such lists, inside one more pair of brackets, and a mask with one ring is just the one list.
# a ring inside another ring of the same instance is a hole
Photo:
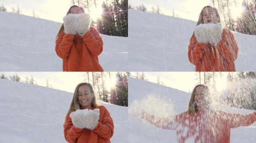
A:
{"label": "orange sweater streaked with falling snow, woman blowing, top-right frame", "polygon": [[188,48],[189,61],[196,66],[195,71],[235,71],[238,45],[227,28],[223,29],[217,45],[199,43],[193,35]]}

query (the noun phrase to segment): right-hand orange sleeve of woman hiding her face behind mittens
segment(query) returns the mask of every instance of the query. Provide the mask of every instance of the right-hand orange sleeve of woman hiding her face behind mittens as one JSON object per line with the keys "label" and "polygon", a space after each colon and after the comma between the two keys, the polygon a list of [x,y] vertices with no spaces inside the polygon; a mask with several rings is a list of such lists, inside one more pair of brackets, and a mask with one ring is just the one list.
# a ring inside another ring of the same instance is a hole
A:
{"label": "right-hand orange sleeve of woman hiding her face behind mittens", "polygon": [[102,53],[103,40],[94,27],[91,26],[90,30],[83,35],[83,42],[93,56],[98,56]]}

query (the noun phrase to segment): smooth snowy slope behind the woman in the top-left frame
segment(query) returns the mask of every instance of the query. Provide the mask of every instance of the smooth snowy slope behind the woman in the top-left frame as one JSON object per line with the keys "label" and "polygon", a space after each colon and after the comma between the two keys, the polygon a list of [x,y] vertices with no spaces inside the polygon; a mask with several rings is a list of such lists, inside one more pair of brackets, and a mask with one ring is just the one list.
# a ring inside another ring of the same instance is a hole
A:
{"label": "smooth snowy slope behind the woman in the top-left frame", "polygon": [[[7,12],[0,12],[0,21],[0,71],[62,71],[62,59],[55,53],[61,23]],[[104,71],[126,71],[128,38],[101,36]]]}

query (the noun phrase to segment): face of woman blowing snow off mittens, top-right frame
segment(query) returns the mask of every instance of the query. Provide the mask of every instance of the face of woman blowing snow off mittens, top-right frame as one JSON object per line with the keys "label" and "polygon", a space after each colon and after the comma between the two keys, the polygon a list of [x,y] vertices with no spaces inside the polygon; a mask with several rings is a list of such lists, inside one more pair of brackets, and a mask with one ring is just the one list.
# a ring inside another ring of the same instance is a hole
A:
{"label": "face of woman blowing snow off mittens, top-right frame", "polygon": [[215,9],[213,9],[212,7],[205,7],[202,11],[202,20],[204,21],[205,24],[216,24],[218,22],[219,18],[216,15]]}

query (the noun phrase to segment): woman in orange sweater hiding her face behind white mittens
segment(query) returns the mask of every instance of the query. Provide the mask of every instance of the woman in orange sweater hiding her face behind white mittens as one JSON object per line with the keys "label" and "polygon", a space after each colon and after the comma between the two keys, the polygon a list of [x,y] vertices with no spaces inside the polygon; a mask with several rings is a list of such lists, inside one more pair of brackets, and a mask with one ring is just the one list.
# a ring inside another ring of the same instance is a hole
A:
{"label": "woman in orange sweater hiding her face behind white mittens", "polygon": [[90,15],[71,6],[56,36],[55,51],[63,59],[63,71],[103,71],[98,55],[103,51],[99,32],[89,26]]}

